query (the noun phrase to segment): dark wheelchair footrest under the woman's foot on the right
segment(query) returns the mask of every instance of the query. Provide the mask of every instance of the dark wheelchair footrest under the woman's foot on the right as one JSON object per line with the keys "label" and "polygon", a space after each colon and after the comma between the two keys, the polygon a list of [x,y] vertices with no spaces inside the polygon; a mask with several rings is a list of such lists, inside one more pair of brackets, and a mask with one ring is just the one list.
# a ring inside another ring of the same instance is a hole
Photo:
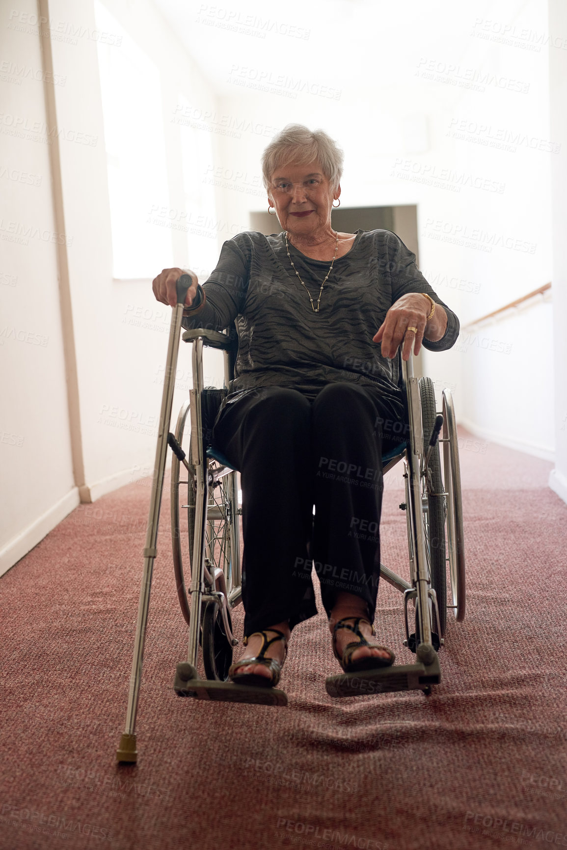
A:
{"label": "dark wheelchair footrest under the woman's foot on the right", "polygon": [[362,670],[329,676],[325,687],[329,696],[368,696],[387,694],[391,691],[428,689],[441,681],[439,658],[435,655],[431,664],[403,664],[381,667],[377,670]]}

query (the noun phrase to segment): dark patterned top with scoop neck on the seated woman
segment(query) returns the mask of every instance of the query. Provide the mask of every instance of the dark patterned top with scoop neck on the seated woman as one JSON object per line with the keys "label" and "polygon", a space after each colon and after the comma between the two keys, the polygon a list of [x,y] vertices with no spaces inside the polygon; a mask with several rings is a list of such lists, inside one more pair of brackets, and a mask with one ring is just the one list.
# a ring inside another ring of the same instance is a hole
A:
{"label": "dark patterned top with scoop neck on the seated woman", "polygon": [[[299,275],[316,306],[331,263],[306,257],[290,243]],[[236,321],[239,349],[225,403],[261,387],[298,389],[315,398],[327,383],[373,388],[395,418],[402,416],[400,351],[384,358],[372,337],[392,304],[406,292],[427,292],[447,313],[445,336],[431,351],[451,348],[459,320],[417,269],[416,257],[390,230],[357,230],[337,258],[315,313],[287,257],[285,234],[247,231],[224,242],[203,288],[207,303],[183,326],[223,330]]]}

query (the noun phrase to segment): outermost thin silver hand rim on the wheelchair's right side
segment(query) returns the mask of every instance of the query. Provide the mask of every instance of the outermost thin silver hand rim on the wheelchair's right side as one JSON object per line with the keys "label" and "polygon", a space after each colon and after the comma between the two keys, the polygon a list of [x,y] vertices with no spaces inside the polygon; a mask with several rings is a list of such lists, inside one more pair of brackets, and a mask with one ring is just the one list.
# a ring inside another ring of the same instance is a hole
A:
{"label": "outermost thin silver hand rim on the wheelchair's right side", "polygon": [[447,543],[451,576],[451,609],[457,621],[465,618],[465,547],[462,530],[461,466],[455,409],[450,389],[443,390],[443,466],[447,499]]}

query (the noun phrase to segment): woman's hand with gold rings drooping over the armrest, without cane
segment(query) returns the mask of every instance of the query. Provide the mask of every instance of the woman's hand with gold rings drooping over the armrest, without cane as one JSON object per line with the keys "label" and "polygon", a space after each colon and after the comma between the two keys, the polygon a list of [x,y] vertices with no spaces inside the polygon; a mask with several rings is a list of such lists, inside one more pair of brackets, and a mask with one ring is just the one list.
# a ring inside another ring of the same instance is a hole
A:
{"label": "woman's hand with gold rings drooping over the armrest, without cane", "polygon": [[[400,344],[402,360],[409,360],[411,348],[419,354],[431,305],[419,292],[408,292],[392,304],[382,325],[372,337],[373,343],[382,343],[382,356],[395,357]],[[417,330],[408,331],[408,328]],[[414,345],[415,343],[415,345]]]}

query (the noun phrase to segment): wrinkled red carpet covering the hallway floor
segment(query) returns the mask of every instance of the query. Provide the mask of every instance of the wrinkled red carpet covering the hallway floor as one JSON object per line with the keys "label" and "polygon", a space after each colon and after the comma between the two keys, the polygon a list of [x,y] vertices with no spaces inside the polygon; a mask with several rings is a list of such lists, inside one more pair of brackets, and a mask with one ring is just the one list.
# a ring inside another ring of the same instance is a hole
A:
{"label": "wrinkled red carpet covering the hallway floor", "polygon": [[[322,616],[293,633],[286,708],[176,697],[185,626],[164,501],[130,768],[114,759],[149,483],[78,507],[0,580],[0,847],[567,847],[567,506],[547,462],[466,433],[461,462],[468,613],[449,622],[429,698],[332,700]],[[383,562],[407,575],[388,478]],[[383,583],[377,636],[408,663],[401,601]]]}

